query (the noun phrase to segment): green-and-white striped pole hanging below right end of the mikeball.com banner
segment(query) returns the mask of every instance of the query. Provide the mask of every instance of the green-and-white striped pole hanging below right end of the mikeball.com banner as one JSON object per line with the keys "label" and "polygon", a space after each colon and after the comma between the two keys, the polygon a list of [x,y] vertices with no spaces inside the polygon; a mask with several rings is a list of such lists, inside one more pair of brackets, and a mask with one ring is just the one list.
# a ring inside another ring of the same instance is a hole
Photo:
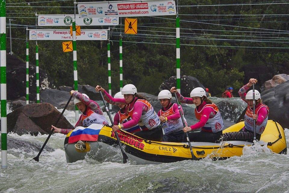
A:
{"label": "green-and-white striped pole hanging below right end of the mikeball.com banner", "polygon": [[177,68],[177,90],[181,93],[181,63],[180,63],[180,18],[176,17],[176,68]]}

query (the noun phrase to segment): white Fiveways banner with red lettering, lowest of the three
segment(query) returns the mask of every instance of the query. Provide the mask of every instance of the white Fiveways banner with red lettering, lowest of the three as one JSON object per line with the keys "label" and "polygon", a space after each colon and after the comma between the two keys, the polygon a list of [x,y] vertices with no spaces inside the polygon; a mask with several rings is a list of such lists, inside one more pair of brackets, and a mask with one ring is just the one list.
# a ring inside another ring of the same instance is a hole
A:
{"label": "white Fiveways banner with red lettering, lowest of the three", "polygon": [[[29,40],[72,40],[70,30],[29,30]],[[107,30],[81,30],[76,40],[107,40]]]}

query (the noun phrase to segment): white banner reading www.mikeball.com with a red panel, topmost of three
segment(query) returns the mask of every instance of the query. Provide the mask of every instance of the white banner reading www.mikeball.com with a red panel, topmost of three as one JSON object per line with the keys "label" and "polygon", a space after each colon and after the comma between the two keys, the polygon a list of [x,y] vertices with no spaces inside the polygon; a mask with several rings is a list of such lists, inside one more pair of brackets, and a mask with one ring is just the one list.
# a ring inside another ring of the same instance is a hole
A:
{"label": "white banner reading www.mikeball.com with a red panel, topmost of three", "polygon": [[176,15],[174,0],[84,2],[77,8],[81,18]]}

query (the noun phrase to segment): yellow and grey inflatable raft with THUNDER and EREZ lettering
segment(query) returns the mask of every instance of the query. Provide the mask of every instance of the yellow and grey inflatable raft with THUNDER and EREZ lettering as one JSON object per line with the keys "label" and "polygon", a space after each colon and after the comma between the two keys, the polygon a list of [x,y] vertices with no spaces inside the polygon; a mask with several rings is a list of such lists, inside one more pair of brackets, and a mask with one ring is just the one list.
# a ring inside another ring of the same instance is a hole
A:
{"label": "yellow and grey inflatable raft with THUNDER and EREZ lettering", "polygon": [[[225,129],[225,132],[239,131],[244,127],[244,122],[239,122]],[[182,160],[200,160],[210,157],[214,160],[222,160],[232,156],[241,156],[244,146],[251,146],[252,143],[246,141],[222,141],[220,143],[209,142],[191,142],[193,157],[191,155],[188,143],[172,143],[149,141],[139,138],[126,131],[118,132],[121,143],[126,145],[126,151],[129,159],[136,164],[157,164],[168,163]],[[89,151],[98,151],[100,149],[111,149],[117,144],[117,139],[112,129],[103,126],[98,135],[98,141],[85,142],[85,149],[79,150],[75,148],[75,144],[68,144],[70,133],[65,139],[64,148],[67,162],[74,162],[84,159]],[[259,142],[261,145],[267,145],[272,152],[287,153],[286,139],[284,130],[277,122],[269,120],[266,129],[261,135]]]}

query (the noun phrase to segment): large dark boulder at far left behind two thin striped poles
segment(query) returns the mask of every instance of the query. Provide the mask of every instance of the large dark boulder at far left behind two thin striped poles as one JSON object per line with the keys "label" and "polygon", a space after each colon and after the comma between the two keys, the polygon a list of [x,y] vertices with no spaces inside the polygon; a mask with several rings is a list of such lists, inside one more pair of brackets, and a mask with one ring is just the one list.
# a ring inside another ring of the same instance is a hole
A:
{"label": "large dark boulder at far left behind two thin striped poles", "polygon": [[[15,56],[6,54],[7,100],[26,96],[26,63]],[[29,64],[29,99],[36,100],[36,66]],[[39,89],[54,87],[52,79],[39,68]]]}

